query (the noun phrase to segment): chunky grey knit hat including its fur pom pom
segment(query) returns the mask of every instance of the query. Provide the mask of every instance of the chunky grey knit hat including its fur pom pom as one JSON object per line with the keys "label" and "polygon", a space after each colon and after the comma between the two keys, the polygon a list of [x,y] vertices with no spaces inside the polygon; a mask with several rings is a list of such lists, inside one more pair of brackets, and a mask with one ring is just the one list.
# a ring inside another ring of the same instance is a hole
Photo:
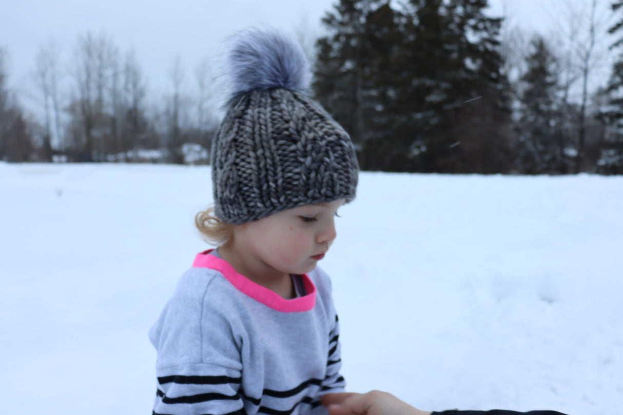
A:
{"label": "chunky grey knit hat including its fur pom pom", "polygon": [[233,92],[212,142],[215,214],[232,224],[355,197],[358,163],[344,129],[305,94],[303,50],[275,31],[246,31],[229,53]]}

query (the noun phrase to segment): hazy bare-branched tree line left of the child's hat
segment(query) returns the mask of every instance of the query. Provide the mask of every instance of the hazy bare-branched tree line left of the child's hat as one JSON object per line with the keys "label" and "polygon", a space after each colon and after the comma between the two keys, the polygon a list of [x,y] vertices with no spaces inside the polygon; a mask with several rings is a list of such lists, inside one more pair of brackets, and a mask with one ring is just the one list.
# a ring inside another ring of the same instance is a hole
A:
{"label": "hazy bare-branched tree line left of the child's hat", "polygon": [[168,93],[154,103],[136,52],[122,53],[107,34],[78,37],[67,65],[50,41],[31,73],[38,118],[7,88],[5,60],[0,49],[0,160],[207,163],[217,126],[207,60],[194,69],[191,95],[176,58]]}

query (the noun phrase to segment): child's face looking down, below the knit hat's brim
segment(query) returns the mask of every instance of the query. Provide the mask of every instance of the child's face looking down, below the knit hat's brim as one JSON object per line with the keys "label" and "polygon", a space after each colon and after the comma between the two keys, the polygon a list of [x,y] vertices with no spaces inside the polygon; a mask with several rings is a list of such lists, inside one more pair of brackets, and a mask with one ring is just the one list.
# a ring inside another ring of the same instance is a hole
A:
{"label": "child's face looking down, below the knit hat's brim", "polygon": [[246,223],[235,239],[253,255],[262,274],[305,274],[316,267],[336,237],[335,214],[343,199],[277,212]]}

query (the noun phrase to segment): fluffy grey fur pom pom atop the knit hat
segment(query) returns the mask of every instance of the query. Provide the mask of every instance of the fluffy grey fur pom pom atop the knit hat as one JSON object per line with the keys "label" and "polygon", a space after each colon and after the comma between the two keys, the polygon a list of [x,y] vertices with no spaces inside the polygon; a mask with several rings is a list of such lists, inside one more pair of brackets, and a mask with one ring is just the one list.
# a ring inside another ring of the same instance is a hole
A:
{"label": "fluffy grey fur pom pom atop the knit hat", "polygon": [[228,58],[232,99],[270,88],[305,92],[312,78],[301,45],[272,29],[241,32],[234,37]]}

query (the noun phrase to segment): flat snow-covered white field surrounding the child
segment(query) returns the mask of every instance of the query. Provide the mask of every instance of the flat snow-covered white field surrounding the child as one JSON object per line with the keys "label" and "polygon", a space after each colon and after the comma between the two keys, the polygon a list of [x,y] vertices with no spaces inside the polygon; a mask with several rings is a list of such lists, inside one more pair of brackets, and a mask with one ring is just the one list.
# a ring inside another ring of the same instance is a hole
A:
{"label": "flat snow-covered white field surrounding the child", "polygon": [[[623,177],[361,174],[343,374],[421,409],[623,413]],[[210,169],[0,164],[0,413],[149,414]]]}

